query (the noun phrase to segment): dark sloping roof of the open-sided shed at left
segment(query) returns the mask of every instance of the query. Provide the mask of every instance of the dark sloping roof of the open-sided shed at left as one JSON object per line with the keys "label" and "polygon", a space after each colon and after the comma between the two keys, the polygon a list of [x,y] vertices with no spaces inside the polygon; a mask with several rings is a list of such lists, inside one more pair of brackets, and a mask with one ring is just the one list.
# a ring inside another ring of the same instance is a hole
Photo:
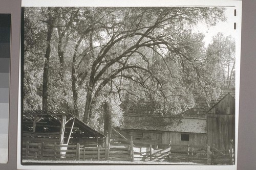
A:
{"label": "dark sloping roof of the open-sided shed at left", "polygon": [[[63,111],[49,111],[49,110],[25,110],[23,111],[23,126],[31,126],[33,125],[32,121],[35,117],[40,117],[41,119],[37,123],[42,127],[58,127],[60,123],[58,121],[57,116],[66,115],[67,120],[70,120],[66,127],[71,127],[74,119],[74,132],[80,133],[81,136],[86,137],[104,137],[101,133],[97,132],[96,130],[89,127],[87,124],[83,123],[74,115],[63,112]],[[66,129],[67,129],[66,128]],[[70,131],[70,130],[69,130]]]}

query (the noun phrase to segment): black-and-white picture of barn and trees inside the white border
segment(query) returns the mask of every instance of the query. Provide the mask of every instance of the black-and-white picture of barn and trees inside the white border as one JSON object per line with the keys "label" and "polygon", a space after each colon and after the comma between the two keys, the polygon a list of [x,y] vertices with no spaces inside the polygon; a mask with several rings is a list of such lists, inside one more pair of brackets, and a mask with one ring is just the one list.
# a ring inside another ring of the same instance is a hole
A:
{"label": "black-and-white picture of barn and trees inside the white border", "polygon": [[22,165],[236,164],[236,6],[22,17]]}

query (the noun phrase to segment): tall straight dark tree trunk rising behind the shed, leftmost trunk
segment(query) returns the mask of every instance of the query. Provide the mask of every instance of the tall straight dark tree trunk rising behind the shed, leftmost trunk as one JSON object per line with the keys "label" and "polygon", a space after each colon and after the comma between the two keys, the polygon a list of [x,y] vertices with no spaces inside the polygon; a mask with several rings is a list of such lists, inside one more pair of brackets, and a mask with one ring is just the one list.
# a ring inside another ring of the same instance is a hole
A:
{"label": "tall straight dark tree trunk rising behind the shed, leftmost trunk", "polygon": [[48,7],[49,18],[47,22],[47,45],[45,54],[44,73],[42,76],[42,110],[48,110],[48,79],[49,79],[49,58],[51,53],[51,38],[53,31],[53,18],[51,16],[51,8]]}

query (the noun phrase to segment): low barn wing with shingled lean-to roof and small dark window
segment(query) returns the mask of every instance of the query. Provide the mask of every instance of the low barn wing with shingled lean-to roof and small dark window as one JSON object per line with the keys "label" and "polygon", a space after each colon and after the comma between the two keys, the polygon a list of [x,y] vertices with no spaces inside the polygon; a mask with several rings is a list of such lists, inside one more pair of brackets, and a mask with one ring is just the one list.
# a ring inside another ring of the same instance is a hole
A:
{"label": "low barn wing with shingled lean-to roof and small dark window", "polygon": [[125,116],[121,134],[126,138],[169,144],[206,144],[204,118],[173,118],[165,116]]}

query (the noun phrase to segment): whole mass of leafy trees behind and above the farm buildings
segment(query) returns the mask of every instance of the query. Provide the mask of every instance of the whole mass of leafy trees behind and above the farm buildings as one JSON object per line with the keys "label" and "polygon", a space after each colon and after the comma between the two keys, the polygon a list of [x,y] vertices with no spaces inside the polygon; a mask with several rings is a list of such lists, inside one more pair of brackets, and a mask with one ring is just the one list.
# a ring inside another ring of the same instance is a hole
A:
{"label": "whole mass of leafy trees behind and above the farm buildings", "polygon": [[[223,8],[25,8],[26,110],[41,108],[44,98],[49,16],[49,110],[71,112],[102,131],[106,100],[112,126],[120,126],[131,103],[176,115],[194,105],[195,93],[218,97],[219,70],[227,62],[216,55],[222,42],[206,50],[204,35],[191,30],[198,22],[210,27],[224,21]],[[225,63],[217,64],[219,58]]]}

